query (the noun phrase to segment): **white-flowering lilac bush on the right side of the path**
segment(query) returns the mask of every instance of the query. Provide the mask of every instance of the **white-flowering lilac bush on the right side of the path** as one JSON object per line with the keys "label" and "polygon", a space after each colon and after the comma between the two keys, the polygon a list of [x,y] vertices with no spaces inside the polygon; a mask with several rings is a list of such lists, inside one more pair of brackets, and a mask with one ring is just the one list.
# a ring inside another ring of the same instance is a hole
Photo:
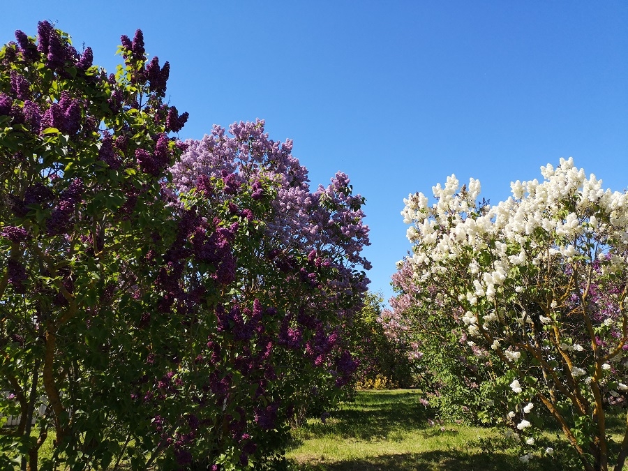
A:
{"label": "white-flowering lilac bush on the right side of the path", "polygon": [[433,187],[433,204],[409,195],[413,247],[399,269],[411,288],[383,322],[408,337],[424,322],[404,315],[413,306],[449,319],[461,332],[449,355],[480,359],[493,421],[519,433],[530,457],[547,454],[534,438],[558,424],[585,470],[620,470],[628,431],[611,442],[606,417],[628,389],[628,195],[604,190],[571,158],[541,174],[512,183],[495,206],[478,202],[479,181],[460,186],[454,175]]}

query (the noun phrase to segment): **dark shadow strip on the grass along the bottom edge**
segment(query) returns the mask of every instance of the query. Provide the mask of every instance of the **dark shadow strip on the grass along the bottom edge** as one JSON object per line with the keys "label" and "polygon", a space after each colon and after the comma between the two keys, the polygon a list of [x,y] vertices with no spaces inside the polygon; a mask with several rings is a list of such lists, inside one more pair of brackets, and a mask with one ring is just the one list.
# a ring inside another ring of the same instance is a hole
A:
{"label": "dark shadow strip on the grass along the bottom edge", "polygon": [[296,465],[300,471],[557,471],[555,463],[537,458],[528,464],[506,454],[469,455],[462,451],[426,451],[420,454],[371,456],[364,459],[324,463],[310,461]]}

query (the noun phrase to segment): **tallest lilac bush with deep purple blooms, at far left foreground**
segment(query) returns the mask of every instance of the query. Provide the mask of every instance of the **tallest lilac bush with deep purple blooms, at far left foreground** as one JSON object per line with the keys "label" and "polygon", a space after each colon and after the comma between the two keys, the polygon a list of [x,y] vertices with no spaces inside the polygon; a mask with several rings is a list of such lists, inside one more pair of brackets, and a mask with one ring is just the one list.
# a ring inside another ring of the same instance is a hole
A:
{"label": "tallest lilac bush with deep purple blooms, at far left foreground", "polygon": [[142,291],[163,260],[144,254],[163,253],[177,224],[162,183],[181,146],[145,80],[141,31],[109,76],[50,22],[15,38],[0,51],[0,421],[19,424],[2,429],[0,462],[106,467],[147,426],[128,410],[151,374],[152,339],[135,326],[156,307]]}

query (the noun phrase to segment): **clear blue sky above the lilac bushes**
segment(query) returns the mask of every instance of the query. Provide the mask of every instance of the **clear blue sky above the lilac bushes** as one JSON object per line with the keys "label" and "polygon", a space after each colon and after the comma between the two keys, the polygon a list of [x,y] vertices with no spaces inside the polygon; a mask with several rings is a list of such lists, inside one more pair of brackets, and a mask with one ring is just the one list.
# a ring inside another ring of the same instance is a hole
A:
{"label": "clear blue sky above the lilac bushes", "polygon": [[573,156],[628,186],[627,1],[12,1],[0,40],[57,22],[114,71],[121,34],[170,61],[182,138],[266,119],[311,184],[366,197],[371,289],[410,248],[403,198],[455,173],[497,203]]}

